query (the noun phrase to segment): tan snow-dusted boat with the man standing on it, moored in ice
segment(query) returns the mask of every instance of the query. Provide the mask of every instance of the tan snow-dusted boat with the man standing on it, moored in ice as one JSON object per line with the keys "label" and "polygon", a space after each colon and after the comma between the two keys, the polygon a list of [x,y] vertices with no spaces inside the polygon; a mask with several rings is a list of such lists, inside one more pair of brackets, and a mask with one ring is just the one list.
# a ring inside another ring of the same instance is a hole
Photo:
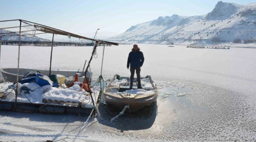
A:
{"label": "tan snow-dusted boat with the man standing on it, moored in ice", "polygon": [[[127,83],[125,82],[127,80]],[[143,80],[147,80],[144,86]],[[119,109],[129,106],[126,111],[134,112],[145,106],[151,105],[157,100],[157,87],[150,76],[141,78],[143,89],[137,89],[137,78],[134,78],[133,89],[129,89],[130,82],[128,77],[123,77],[120,83],[117,81],[117,75],[114,76],[105,87],[102,98],[107,104],[114,105]]]}

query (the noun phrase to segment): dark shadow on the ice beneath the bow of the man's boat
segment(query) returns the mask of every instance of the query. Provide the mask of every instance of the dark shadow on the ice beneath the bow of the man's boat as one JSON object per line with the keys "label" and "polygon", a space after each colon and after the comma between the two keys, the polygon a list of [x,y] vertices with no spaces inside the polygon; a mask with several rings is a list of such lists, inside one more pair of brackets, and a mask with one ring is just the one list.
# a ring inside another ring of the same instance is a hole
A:
{"label": "dark shadow on the ice beneath the bow of the man's boat", "polygon": [[128,130],[144,130],[150,128],[155,121],[157,115],[157,103],[154,102],[150,106],[146,106],[137,112],[125,112],[112,122],[113,117],[119,115],[122,110],[115,108],[112,105],[100,104],[100,117],[97,117],[98,122],[102,125],[116,128],[121,131]]}

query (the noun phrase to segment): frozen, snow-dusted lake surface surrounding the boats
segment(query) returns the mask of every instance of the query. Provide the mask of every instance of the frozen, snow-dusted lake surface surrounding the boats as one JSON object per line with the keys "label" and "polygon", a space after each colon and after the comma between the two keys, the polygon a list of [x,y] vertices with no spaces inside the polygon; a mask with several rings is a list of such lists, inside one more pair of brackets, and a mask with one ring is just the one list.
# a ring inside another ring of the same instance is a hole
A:
{"label": "frozen, snow-dusted lake surface surrounding the boats", "polygon": [[[155,80],[157,103],[114,122],[110,119],[120,111],[101,105],[101,118],[87,125],[87,118],[80,116],[0,112],[1,141],[256,140],[256,49],[139,47],[145,56],[141,76],[150,74]],[[92,48],[53,47],[52,69],[82,70]],[[131,48],[105,47],[104,79],[129,76],[126,63]],[[20,68],[48,70],[50,49],[21,46]],[[102,49],[98,47],[98,58],[91,62],[94,78],[100,75]],[[16,68],[17,57],[17,46],[2,45],[0,67]]]}

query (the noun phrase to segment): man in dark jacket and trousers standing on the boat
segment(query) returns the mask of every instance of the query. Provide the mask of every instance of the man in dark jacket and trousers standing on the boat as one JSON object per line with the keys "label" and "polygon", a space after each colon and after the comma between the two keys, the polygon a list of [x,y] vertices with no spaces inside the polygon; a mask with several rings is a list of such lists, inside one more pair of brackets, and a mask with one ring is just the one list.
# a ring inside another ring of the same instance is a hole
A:
{"label": "man in dark jacket and trousers standing on the boat", "polygon": [[144,63],[143,53],[140,51],[138,45],[134,44],[132,51],[129,53],[128,60],[127,60],[127,69],[129,69],[129,66],[131,64],[130,89],[132,89],[132,86],[133,86],[135,70],[136,70],[137,82],[138,82],[137,88],[142,89],[141,84],[140,84],[140,67],[142,67],[143,63]]}

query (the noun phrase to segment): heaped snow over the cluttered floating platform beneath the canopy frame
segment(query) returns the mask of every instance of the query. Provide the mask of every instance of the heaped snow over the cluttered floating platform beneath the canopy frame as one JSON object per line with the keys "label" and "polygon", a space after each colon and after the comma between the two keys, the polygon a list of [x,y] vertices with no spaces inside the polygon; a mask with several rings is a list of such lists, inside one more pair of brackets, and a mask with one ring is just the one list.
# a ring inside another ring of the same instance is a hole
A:
{"label": "heaped snow over the cluttered floating platform beneath the canopy frame", "polygon": [[[17,102],[27,102],[30,103],[40,103],[43,99],[47,100],[57,100],[57,101],[70,101],[70,102],[82,102],[83,107],[91,108],[93,107],[92,99],[90,96],[86,96],[87,93],[84,89],[80,92],[80,82],[75,82],[72,87],[69,88],[56,88],[50,85],[40,86],[37,83],[25,83],[20,88],[20,94],[17,96]],[[92,89],[93,90],[93,89]],[[10,93],[11,92],[11,93]],[[100,93],[100,88],[98,86],[94,87],[93,99],[97,99]],[[8,94],[10,93],[10,94]],[[15,90],[8,89],[6,95],[8,96],[2,101],[15,101]],[[14,95],[12,95],[14,94]],[[95,100],[94,100],[95,101]],[[56,104],[57,105],[57,104]]]}

